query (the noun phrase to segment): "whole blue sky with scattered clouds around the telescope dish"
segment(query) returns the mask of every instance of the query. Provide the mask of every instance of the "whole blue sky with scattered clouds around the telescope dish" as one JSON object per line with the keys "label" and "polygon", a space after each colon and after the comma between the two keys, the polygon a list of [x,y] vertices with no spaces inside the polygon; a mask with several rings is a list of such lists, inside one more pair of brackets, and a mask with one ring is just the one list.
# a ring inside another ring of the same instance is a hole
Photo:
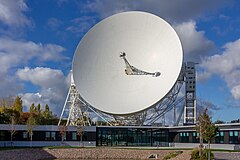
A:
{"label": "whole blue sky with scattered clouds around the telescope dish", "polygon": [[60,114],[72,58],[102,19],[146,11],[170,23],[184,61],[197,65],[197,98],[212,103],[213,120],[240,115],[238,0],[0,0],[0,97],[22,97],[24,109],[48,104]]}

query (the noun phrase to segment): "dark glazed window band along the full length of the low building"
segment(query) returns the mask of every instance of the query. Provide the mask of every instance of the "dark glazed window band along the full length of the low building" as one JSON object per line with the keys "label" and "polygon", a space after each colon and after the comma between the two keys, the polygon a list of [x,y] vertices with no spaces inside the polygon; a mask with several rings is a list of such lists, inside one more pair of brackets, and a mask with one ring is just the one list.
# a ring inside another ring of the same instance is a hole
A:
{"label": "dark glazed window band along the full length of the low building", "polygon": [[[239,125],[240,126],[240,125]],[[83,141],[95,141],[97,146],[172,146],[174,143],[199,143],[199,134],[185,128],[150,127],[150,126],[101,126],[96,130],[84,132]],[[61,141],[58,130],[33,131],[33,141]],[[0,141],[10,141],[7,130],[0,130]],[[13,141],[30,141],[25,130],[16,131]],[[67,131],[64,141],[80,141],[80,136],[74,130]],[[207,143],[204,141],[204,143]],[[240,144],[239,128],[219,130],[212,143]]]}

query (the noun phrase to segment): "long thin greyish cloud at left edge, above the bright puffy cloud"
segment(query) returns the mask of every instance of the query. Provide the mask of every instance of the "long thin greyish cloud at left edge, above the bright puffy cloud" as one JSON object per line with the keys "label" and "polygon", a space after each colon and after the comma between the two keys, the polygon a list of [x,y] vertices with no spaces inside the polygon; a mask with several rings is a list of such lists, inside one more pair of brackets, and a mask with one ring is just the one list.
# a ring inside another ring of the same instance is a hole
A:
{"label": "long thin greyish cloud at left edge, above the bright puffy cloud", "polygon": [[56,44],[37,44],[32,41],[20,41],[0,37],[0,68],[6,72],[9,68],[26,64],[30,60],[59,61],[65,59],[65,48]]}

